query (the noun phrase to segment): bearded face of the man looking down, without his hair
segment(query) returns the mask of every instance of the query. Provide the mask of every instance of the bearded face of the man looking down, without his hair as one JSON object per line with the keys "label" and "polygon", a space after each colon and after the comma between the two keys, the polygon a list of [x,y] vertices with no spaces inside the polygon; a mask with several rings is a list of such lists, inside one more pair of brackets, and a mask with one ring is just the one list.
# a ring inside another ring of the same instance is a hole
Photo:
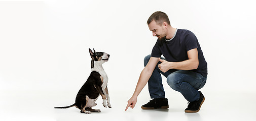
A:
{"label": "bearded face of the man looking down, without his hair", "polygon": [[152,31],[153,36],[156,36],[159,40],[165,39],[166,32],[163,25],[158,25],[155,21],[152,21],[149,25],[150,31]]}

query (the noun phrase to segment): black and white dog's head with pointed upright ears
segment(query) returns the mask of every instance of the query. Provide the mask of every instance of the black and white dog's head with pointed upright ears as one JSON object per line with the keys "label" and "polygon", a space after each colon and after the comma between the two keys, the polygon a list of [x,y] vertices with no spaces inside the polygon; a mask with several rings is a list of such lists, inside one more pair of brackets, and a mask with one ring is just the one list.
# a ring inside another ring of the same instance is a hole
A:
{"label": "black and white dog's head with pointed upright ears", "polygon": [[102,65],[103,63],[108,61],[108,58],[110,56],[105,52],[95,52],[94,49],[92,51],[90,48],[89,48],[89,52],[92,58],[92,63],[91,63],[92,68],[94,68],[94,62]]}

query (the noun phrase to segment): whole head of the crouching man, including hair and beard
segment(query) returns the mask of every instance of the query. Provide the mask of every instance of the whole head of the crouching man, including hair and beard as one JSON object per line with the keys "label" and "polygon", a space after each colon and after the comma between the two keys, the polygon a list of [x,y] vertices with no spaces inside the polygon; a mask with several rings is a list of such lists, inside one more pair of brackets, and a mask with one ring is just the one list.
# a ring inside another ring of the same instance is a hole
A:
{"label": "whole head of the crouching man, including hair and beard", "polygon": [[153,13],[147,22],[150,31],[153,32],[153,36],[158,37],[158,39],[165,39],[167,36],[167,26],[170,26],[170,21],[168,16],[160,11]]}

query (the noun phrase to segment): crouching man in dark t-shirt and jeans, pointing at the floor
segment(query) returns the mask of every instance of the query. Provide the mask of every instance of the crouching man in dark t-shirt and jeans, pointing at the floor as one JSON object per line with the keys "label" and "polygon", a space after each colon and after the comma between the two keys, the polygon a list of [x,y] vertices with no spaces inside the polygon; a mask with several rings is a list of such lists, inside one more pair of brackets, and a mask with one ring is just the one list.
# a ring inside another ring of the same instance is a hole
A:
{"label": "crouching man in dark t-shirt and jeans, pointing at the floor", "polygon": [[125,110],[128,107],[134,108],[137,96],[147,82],[150,96],[154,99],[141,108],[169,108],[162,85],[162,74],[167,78],[168,85],[190,102],[185,112],[198,112],[205,100],[198,90],[206,83],[207,63],[196,36],[189,30],[173,28],[163,12],[153,13],[147,23],[153,36],[158,39],[151,55],[144,58],[145,68]]}

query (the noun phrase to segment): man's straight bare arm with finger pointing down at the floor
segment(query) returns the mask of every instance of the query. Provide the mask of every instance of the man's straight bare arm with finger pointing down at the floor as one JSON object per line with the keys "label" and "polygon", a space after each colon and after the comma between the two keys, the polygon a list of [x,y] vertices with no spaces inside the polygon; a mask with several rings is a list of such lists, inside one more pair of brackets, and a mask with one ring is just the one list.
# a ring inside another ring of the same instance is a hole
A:
{"label": "man's straight bare arm with finger pointing down at the floor", "polygon": [[144,88],[144,86],[148,83],[158,62],[159,62],[159,57],[150,57],[149,63],[147,64],[147,66],[145,66],[145,68],[140,73],[137,86],[135,88],[135,91],[132,97],[128,100],[128,104],[126,106],[125,111],[128,109],[128,107],[133,108],[135,106],[139,93]]}

